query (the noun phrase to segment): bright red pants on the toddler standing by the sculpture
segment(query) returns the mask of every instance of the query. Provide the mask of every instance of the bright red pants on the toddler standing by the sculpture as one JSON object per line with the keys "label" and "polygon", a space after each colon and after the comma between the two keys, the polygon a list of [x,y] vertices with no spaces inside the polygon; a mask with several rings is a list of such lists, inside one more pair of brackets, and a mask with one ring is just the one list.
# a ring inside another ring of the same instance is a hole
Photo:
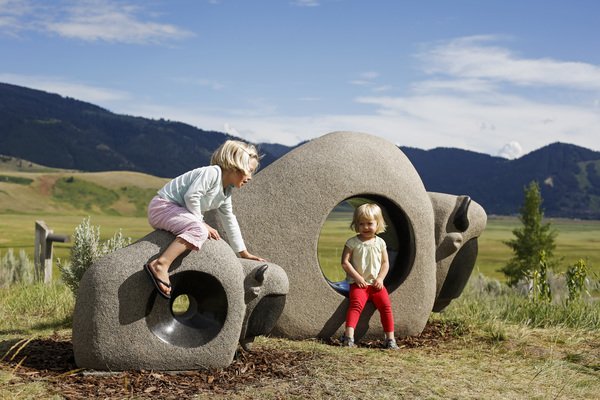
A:
{"label": "bright red pants on the toddler standing by the sculpture", "polygon": [[360,313],[362,313],[365,304],[367,304],[367,301],[369,300],[371,300],[379,310],[383,331],[393,332],[394,316],[392,315],[390,296],[385,286],[383,289],[377,290],[371,285],[368,285],[363,289],[359,288],[356,283],[350,285],[350,307],[346,314],[346,326],[349,328],[356,328]]}

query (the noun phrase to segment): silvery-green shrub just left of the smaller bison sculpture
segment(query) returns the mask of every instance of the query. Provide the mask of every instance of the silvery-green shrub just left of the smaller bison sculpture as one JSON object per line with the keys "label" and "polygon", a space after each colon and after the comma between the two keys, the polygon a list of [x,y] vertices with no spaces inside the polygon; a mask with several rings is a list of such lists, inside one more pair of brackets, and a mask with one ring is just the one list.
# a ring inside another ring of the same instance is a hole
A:
{"label": "silvery-green shrub just left of the smaller bison sculpture", "polygon": [[124,239],[122,231],[116,232],[112,239],[100,242],[100,227],[90,225],[90,217],[83,219],[75,228],[73,246],[71,246],[68,262],[58,259],[57,264],[63,282],[77,296],[79,282],[83,274],[96,260],[131,243],[131,238]]}

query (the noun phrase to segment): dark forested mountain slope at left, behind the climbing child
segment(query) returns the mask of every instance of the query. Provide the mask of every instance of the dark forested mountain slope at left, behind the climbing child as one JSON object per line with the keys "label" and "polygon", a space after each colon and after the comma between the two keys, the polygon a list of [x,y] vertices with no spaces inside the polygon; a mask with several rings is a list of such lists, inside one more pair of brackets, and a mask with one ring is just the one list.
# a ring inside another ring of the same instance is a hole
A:
{"label": "dark forested mountain slope at left, behind the climbing child", "polygon": [[[174,178],[210,163],[231,135],[0,82],[0,154],[57,168]],[[34,144],[34,145],[32,145]],[[263,166],[276,158],[266,154]]]}

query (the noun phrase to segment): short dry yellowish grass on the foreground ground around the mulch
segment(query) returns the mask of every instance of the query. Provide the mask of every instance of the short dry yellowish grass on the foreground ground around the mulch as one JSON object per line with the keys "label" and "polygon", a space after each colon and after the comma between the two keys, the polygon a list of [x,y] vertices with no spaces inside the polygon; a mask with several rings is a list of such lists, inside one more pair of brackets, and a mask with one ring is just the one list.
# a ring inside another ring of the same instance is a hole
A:
{"label": "short dry yellowish grass on the foreground ground around the mulch", "polygon": [[[42,292],[34,291],[30,300],[18,303],[22,307],[25,307],[22,303],[39,304],[34,297],[40,295]],[[453,302],[446,313],[432,314],[432,319],[442,326],[463,321],[459,330],[445,334],[447,340],[423,342],[418,347],[399,351],[348,349],[316,340],[258,338],[254,347],[257,351],[310,355],[304,357],[306,361],[301,369],[304,372],[286,377],[259,375],[256,381],[237,385],[233,390],[216,387],[209,393],[203,390],[194,398],[600,398],[600,331],[564,327],[538,329],[501,319],[460,317],[467,314],[465,307],[477,307],[469,301],[471,297],[467,296],[465,301]],[[55,308],[59,302],[55,301]],[[14,304],[7,308],[12,310],[17,306]],[[35,307],[14,310],[32,316],[47,314],[42,311],[36,311]],[[8,315],[10,312],[2,311],[2,317]],[[56,335],[52,333],[52,326],[64,322],[62,318],[55,318],[54,323],[49,321],[43,324],[45,329],[39,330],[39,326],[35,328],[38,318],[32,317],[30,323],[21,321],[21,333],[13,326],[4,328],[4,333],[0,332],[0,356],[19,341],[38,335]],[[468,329],[464,329],[465,324],[469,324]],[[59,332],[59,335],[68,337],[70,331]],[[60,398],[53,394],[55,389],[49,383],[32,383],[16,376],[16,368],[18,366],[0,369],[0,398]]]}

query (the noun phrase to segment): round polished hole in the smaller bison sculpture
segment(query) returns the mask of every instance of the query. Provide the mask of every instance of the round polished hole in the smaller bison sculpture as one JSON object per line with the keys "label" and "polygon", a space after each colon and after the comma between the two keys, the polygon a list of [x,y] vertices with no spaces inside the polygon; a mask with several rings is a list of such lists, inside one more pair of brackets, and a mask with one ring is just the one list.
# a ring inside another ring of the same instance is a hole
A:
{"label": "round polished hole in the smaller bison sculpture", "polygon": [[[214,276],[199,271],[175,273],[170,280],[170,301],[156,292],[148,301],[148,328],[173,346],[193,348],[207,344],[221,332],[227,318],[223,285]],[[180,304],[175,305],[176,301]]]}

